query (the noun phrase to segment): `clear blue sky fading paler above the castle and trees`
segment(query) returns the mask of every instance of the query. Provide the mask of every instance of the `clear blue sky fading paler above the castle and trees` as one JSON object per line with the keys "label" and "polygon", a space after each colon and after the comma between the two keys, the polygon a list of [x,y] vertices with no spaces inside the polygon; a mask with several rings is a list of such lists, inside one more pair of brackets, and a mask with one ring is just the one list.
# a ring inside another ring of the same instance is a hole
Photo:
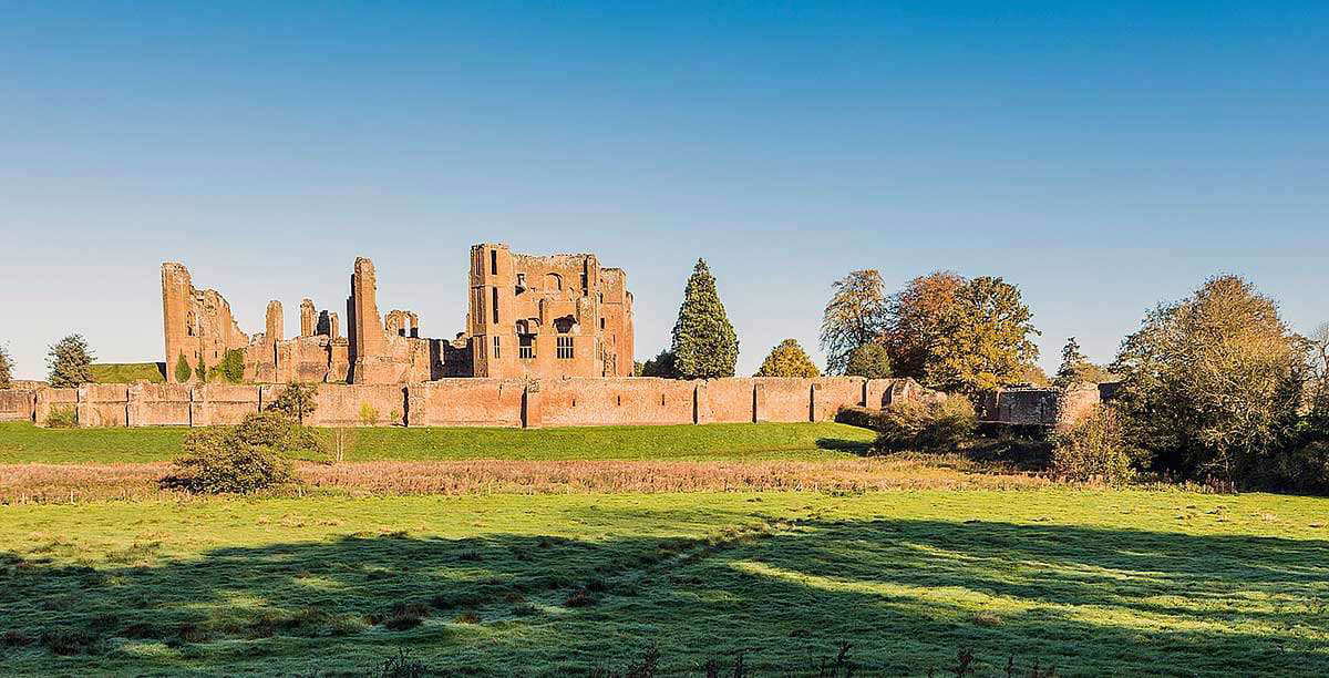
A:
{"label": "clear blue sky fading paler above the castle and trees", "polygon": [[[1329,319],[1329,3],[0,1],[0,342],[161,360],[158,265],[462,327],[466,249],[698,257],[750,374],[832,281],[1017,283],[1055,367],[1219,271]],[[820,362],[820,354],[816,355]]]}

